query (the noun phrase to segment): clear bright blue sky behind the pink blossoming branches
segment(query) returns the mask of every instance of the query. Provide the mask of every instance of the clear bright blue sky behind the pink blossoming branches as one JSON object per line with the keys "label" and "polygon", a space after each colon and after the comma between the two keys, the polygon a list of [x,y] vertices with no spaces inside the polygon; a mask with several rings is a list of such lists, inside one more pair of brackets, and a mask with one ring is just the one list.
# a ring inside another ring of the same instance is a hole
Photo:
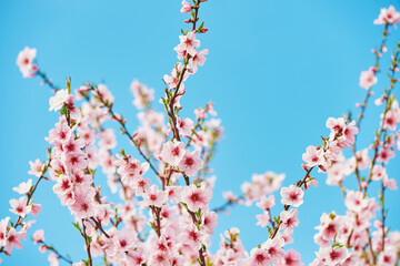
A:
{"label": "clear bright blue sky behind the pink blossoming branches", "polygon": [[[186,83],[182,104],[183,112],[192,115],[194,108],[212,100],[226,127],[212,163],[218,181],[211,206],[223,202],[223,191],[239,194],[253,173],[286,173],[284,185],[302,177],[301,155],[328,134],[326,120],[354,111],[354,103],[364,96],[359,74],[372,65],[370,50],[381,40],[381,27],[372,22],[389,4],[400,9],[399,1],[388,0],[209,0],[203,4],[200,19],[210,31],[201,35],[201,44],[210,54]],[[40,66],[57,84],[63,85],[66,76],[74,86],[106,82],[116,96],[116,111],[128,117],[133,130],[130,82],[139,79],[161,96],[161,78],[176,63],[172,49],[186,27],[179,9],[180,0],[0,1],[0,217],[16,218],[8,212],[10,197],[17,197],[12,187],[29,178],[29,161],[46,158],[44,136],[57,121],[57,114],[48,112],[49,90],[38,79],[22,79],[16,65],[18,52],[26,45],[37,48]],[[399,37],[399,31],[390,35],[389,48]],[[388,57],[382,60],[389,62]],[[386,74],[380,74],[376,89],[382,92],[387,84]],[[372,141],[379,111],[367,111],[360,147]],[[396,158],[389,168],[398,183],[399,165]],[[339,188],[327,186],[324,175],[317,177],[320,186],[306,194],[290,246],[304,263],[314,257],[313,227],[321,213],[344,212]],[[388,194],[392,206],[400,202],[398,192]],[[74,260],[84,258],[83,241],[50,182],[38,188],[36,201],[43,205],[43,214],[30,233],[44,228],[48,243]],[[241,229],[248,250],[264,242],[268,232],[256,226],[258,213],[257,207],[236,207],[230,216],[222,215],[212,249],[219,233],[232,226]],[[399,208],[389,208],[391,228],[400,227],[399,218]],[[47,264],[47,256],[30,241],[23,244],[22,250],[4,258],[4,265]]]}

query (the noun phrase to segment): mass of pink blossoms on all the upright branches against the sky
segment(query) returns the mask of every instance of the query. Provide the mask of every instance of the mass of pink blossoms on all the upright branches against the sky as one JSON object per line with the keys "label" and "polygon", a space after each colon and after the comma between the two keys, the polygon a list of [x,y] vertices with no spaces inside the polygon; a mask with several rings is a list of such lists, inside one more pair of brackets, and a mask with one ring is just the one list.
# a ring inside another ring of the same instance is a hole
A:
{"label": "mass of pink blossoms on all the upright branches against the sky", "polygon": [[[32,241],[41,253],[49,253],[51,266],[58,266],[60,260],[92,266],[100,259],[104,265],[123,266],[301,266],[304,264],[300,253],[288,245],[294,242],[294,229],[301,225],[299,212],[307,191],[311,185],[318,186],[319,177],[312,173],[318,170],[327,175],[328,185],[340,188],[346,213],[323,213],[319,225],[314,223],[318,250],[310,265],[398,265],[400,233],[386,224],[384,193],[398,190],[387,165],[400,150],[400,108],[393,93],[399,82],[394,74],[399,72],[400,45],[391,57],[390,88],[374,100],[378,108],[383,106],[376,137],[368,147],[358,150],[356,144],[368,100],[374,95],[377,74],[381,72],[380,58],[388,51],[389,28],[396,28],[400,13],[389,7],[381,9],[374,20],[384,27],[383,39],[379,50],[372,51],[374,65],[360,75],[359,85],[367,90],[363,103],[357,104],[360,114],[356,120],[350,114],[327,120],[329,135],[322,137],[321,145],[307,146],[302,154],[304,176],[289,181],[284,174],[270,171],[253,174],[250,182],[242,184],[240,196],[226,192],[227,202],[210,208],[216,182],[210,162],[222,139],[221,120],[216,117],[212,102],[196,109],[192,117],[180,115],[184,82],[199,71],[209,53],[208,49],[200,50],[197,39],[208,31],[203,22],[198,24],[203,2],[207,0],[181,3],[181,13],[190,13],[184,22],[191,29],[181,31],[180,42],[173,49],[179,61],[163,76],[164,96],[157,102],[153,89],[138,80],[131,83],[139,121],[134,131],[114,111],[114,96],[106,84],[84,83],[72,90],[69,79],[66,89],[57,88],[39,69],[36,49],[26,48],[19,53],[17,64],[22,75],[39,76],[53,89],[49,110],[57,112],[59,119],[46,137],[50,145],[47,161],[30,162],[29,174],[37,181],[30,178],[13,188],[21,195],[10,200],[10,212],[17,221],[9,216],[0,221],[0,254],[10,256],[13,248],[22,248],[21,239],[27,238],[36,222],[26,218],[41,213],[41,205],[33,203],[33,193],[40,182],[51,182],[52,192],[73,216],[73,226],[88,254],[87,258],[72,260],[47,244],[44,231],[38,229]],[[157,110],[157,103],[164,113]],[[120,132],[109,125],[112,123]],[[127,137],[131,146],[122,149],[117,133]],[[94,182],[103,176],[119,201],[110,200]],[[358,187],[344,186],[351,177]],[[282,186],[286,181],[290,184]],[[369,190],[371,183],[381,186],[377,197]],[[278,191],[279,198],[273,194]],[[211,236],[219,215],[233,204],[249,207],[252,203],[262,212],[254,221],[266,228],[266,241],[248,252],[240,229],[232,227],[220,235],[219,248],[212,253]]]}

